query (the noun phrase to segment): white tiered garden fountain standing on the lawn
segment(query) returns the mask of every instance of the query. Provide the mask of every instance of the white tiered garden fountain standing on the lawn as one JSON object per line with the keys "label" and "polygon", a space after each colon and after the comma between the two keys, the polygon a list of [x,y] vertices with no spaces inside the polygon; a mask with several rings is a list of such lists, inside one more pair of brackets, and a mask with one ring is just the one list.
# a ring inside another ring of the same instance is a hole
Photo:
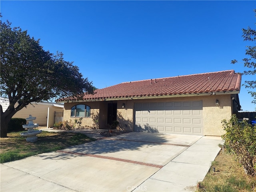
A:
{"label": "white tiered garden fountain standing on the lawn", "polygon": [[32,115],[29,115],[26,120],[28,121],[28,124],[22,125],[24,129],[28,129],[27,132],[20,133],[22,137],[26,137],[27,142],[35,142],[37,141],[38,137],[37,134],[42,133],[42,130],[34,130],[34,128],[38,127],[37,123],[33,123],[33,120],[35,120],[36,117],[32,117]]}

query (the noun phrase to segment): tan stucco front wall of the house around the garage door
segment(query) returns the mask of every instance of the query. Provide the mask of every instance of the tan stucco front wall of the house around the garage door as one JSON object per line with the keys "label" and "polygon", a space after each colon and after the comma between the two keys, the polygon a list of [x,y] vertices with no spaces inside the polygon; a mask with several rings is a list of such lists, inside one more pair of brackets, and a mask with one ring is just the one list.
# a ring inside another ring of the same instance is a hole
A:
{"label": "tan stucco front wall of the house around the garage door", "polygon": [[[216,99],[219,100],[219,106],[215,105]],[[133,130],[134,122],[134,102],[166,102],[166,101],[186,101],[202,100],[203,102],[203,134],[211,136],[221,136],[224,134],[221,121],[230,119],[232,113],[232,100],[230,94],[210,95],[210,96],[189,96],[179,98],[161,98],[144,100],[118,100],[117,102],[117,120],[120,122],[120,128]],[[82,125],[89,128],[96,128],[93,119],[99,120],[99,128],[106,128],[107,122],[107,104],[108,102],[81,102],[65,103],[64,120],[70,120],[70,108],[76,104],[87,104],[91,107],[91,117],[83,118]],[[125,107],[122,108],[122,105]],[[99,109],[100,108],[100,109]],[[100,114],[99,114],[100,113]],[[95,118],[95,116],[97,118]]]}

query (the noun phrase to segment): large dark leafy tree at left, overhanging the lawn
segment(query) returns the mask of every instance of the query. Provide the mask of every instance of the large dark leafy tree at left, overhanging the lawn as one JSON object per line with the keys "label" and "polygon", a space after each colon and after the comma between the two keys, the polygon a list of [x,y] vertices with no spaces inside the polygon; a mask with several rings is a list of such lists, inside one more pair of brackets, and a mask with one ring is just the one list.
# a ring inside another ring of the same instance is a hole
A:
{"label": "large dark leafy tree at left, overhanging the lawn", "polygon": [[0,106],[0,137],[7,137],[12,116],[31,102],[92,92],[91,82],[62,53],[45,51],[27,31],[0,22],[0,94],[10,102],[5,112]]}

